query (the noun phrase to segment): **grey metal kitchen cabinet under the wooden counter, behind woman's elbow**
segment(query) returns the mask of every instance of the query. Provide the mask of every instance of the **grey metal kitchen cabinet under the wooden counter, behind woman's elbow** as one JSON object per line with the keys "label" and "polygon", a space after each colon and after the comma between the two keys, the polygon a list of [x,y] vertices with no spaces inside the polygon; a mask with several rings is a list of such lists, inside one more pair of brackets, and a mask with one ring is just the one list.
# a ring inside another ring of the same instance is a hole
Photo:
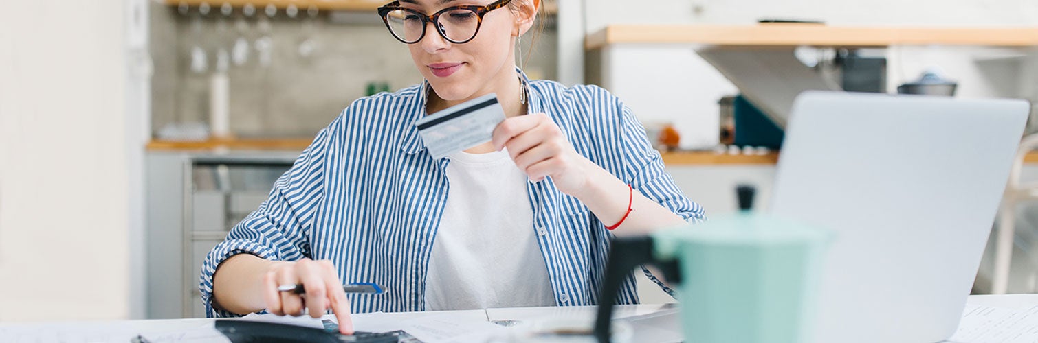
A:
{"label": "grey metal kitchen cabinet under the wooden counter, behind woman's elbow", "polygon": [[148,318],[204,317],[206,255],[267,199],[298,152],[147,156]]}

